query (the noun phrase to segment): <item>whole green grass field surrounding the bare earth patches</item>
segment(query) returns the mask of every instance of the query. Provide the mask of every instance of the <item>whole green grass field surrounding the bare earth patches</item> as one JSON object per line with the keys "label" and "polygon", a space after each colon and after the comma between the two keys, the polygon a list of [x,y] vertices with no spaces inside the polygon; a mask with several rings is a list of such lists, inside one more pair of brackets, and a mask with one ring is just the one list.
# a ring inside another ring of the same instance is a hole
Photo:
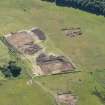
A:
{"label": "whole green grass field surrounding the bare earth patches", "polygon": [[[79,97],[78,105],[103,105],[91,94],[98,83],[89,72],[105,69],[105,18],[40,0],[0,0],[1,36],[33,26],[46,32],[48,51],[70,57],[81,71],[35,79],[53,92],[71,90]],[[61,31],[75,26],[81,27],[81,37],[68,38]],[[0,65],[10,59],[8,49],[0,43]],[[37,85],[27,86],[27,79],[23,76],[22,79],[4,81],[0,86],[0,105],[53,105],[53,98]]]}

